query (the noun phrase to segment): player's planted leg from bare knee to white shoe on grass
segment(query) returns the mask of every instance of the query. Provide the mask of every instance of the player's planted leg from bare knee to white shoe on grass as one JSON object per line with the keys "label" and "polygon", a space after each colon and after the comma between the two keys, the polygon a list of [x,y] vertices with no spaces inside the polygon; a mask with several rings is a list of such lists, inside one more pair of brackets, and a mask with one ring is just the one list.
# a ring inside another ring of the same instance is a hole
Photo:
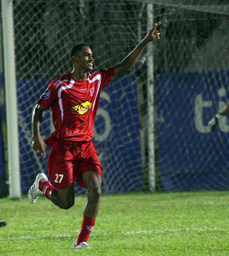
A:
{"label": "player's planted leg from bare knee to white shoe on grass", "polygon": [[[83,173],[83,183],[87,189],[87,203],[84,209],[83,222],[77,241],[73,248],[88,248],[88,238],[95,226],[95,218],[99,210],[101,195],[101,176],[98,173],[87,171]],[[82,247],[81,247],[82,246]]]}

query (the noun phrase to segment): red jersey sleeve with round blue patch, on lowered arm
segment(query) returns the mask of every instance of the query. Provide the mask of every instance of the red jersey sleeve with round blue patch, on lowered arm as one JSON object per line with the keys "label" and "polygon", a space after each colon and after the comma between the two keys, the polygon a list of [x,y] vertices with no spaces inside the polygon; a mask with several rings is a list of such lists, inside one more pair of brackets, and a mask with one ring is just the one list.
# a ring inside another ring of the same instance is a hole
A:
{"label": "red jersey sleeve with round blue patch, on lowered arm", "polygon": [[37,104],[42,105],[46,109],[50,109],[52,104],[58,100],[57,89],[53,86],[55,80],[52,80],[48,88],[41,95],[40,99],[37,101]]}

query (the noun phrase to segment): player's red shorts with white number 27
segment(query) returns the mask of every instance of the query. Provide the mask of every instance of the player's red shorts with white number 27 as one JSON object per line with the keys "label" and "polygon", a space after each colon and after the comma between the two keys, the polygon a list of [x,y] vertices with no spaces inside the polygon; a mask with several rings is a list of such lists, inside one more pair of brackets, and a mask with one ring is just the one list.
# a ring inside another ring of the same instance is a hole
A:
{"label": "player's red shorts with white number 27", "polygon": [[82,175],[91,171],[102,177],[103,168],[93,141],[60,140],[49,153],[48,172],[55,188],[63,189],[76,180],[84,187]]}

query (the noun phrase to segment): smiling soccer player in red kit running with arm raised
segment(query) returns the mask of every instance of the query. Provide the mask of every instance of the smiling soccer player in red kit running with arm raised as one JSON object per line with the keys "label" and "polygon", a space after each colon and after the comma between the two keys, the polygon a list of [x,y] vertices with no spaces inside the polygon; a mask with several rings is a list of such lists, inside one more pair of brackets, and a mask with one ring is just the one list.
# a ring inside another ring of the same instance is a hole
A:
{"label": "smiling soccer player in red kit running with arm raised", "polygon": [[[99,209],[103,169],[92,136],[101,90],[134,65],[146,44],[160,39],[157,30],[160,24],[155,24],[119,65],[106,70],[93,71],[94,59],[90,47],[87,44],[75,45],[71,51],[73,71],[52,80],[34,108],[32,147],[43,157],[44,144],[52,147],[48,157],[52,185],[44,173],[39,173],[29,189],[28,199],[34,204],[44,194],[58,207],[69,209],[74,204],[73,181],[87,189],[83,222],[73,248],[89,248],[88,237],[95,226]],[[50,107],[56,130],[43,142],[40,123],[43,111]]]}

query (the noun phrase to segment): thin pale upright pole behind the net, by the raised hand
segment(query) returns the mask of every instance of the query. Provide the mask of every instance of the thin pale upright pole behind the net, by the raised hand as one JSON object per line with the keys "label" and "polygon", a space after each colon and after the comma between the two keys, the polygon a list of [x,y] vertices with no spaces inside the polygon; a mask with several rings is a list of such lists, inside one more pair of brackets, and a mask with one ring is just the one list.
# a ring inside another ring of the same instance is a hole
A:
{"label": "thin pale upright pole behind the net, by the raised hand", "polygon": [[[153,4],[147,4],[147,31],[153,27]],[[154,62],[153,42],[147,45],[147,105],[148,105],[148,162],[149,189],[155,190],[155,139],[154,139]]]}

